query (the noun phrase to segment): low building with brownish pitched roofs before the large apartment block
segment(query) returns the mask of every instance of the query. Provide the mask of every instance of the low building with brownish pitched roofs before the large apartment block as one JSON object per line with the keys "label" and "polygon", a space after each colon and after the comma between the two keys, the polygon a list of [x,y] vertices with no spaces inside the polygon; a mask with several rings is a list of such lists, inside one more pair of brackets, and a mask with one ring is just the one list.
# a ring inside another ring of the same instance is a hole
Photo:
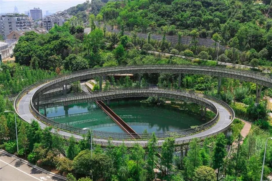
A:
{"label": "low building with brownish pitched roofs before the large apartment block", "polygon": [[38,34],[45,34],[48,32],[45,28],[40,28],[40,27],[26,28],[26,29],[17,28],[16,30],[13,30],[12,32],[10,32],[7,35],[6,39],[7,40],[19,40],[19,38],[21,36],[23,36],[26,32],[29,32],[29,31],[34,31],[35,33],[38,33]]}

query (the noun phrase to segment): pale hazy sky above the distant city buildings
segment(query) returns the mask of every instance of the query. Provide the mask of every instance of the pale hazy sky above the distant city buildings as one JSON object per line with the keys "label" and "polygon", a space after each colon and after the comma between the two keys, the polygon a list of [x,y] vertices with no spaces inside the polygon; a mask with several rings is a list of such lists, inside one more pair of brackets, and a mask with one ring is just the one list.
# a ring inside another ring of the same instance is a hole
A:
{"label": "pale hazy sky above the distant city buildings", "polygon": [[19,13],[24,13],[32,8],[40,8],[45,11],[54,13],[63,11],[77,4],[84,3],[86,0],[0,0],[0,14],[13,13],[14,6],[18,8]]}

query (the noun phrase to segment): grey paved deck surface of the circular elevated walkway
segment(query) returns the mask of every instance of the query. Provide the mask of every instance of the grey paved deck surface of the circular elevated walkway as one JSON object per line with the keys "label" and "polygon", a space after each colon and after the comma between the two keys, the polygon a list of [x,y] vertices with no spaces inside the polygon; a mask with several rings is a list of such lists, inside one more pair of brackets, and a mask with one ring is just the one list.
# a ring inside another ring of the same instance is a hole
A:
{"label": "grey paved deck surface of the circular elevated walkway", "polygon": [[[48,125],[45,124],[44,122],[41,122],[39,119],[37,119],[32,114],[31,109],[30,109],[30,103],[31,103],[30,100],[31,100],[33,94],[36,92],[36,90],[38,90],[43,85],[45,85],[45,84],[39,85],[38,87],[31,89],[27,94],[22,95],[21,99],[19,100],[19,102],[17,104],[17,109],[16,109],[18,115],[23,120],[25,120],[29,123],[31,123],[32,120],[37,120],[39,122],[39,124],[41,125],[41,128],[45,128]],[[175,138],[175,143],[177,145],[187,144],[193,138],[205,139],[206,137],[211,137],[213,135],[216,135],[220,132],[225,131],[230,126],[230,124],[233,120],[233,117],[234,117],[234,113],[232,112],[232,109],[229,109],[227,107],[227,105],[220,104],[217,101],[209,100],[209,99],[207,99],[207,100],[209,102],[211,102],[218,110],[218,113],[219,113],[218,121],[212,127],[208,128],[207,130],[204,130],[203,132],[196,133],[194,135],[185,136],[185,137]],[[52,130],[52,132],[55,132],[55,131],[56,131],[55,129]],[[82,138],[81,135],[69,133],[69,132],[66,132],[63,130],[58,130],[58,133],[63,135],[64,137],[70,137],[73,135],[77,139]],[[106,146],[108,144],[107,139],[93,138],[93,141],[96,144],[99,144],[102,146]],[[163,141],[164,141],[163,139],[158,140],[158,146],[161,146]],[[114,145],[120,145],[123,143],[122,140],[113,140],[112,142]],[[124,143],[127,147],[132,147],[135,143],[139,143],[142,147],[146,147],[147,142],[148,142],[147,140],[125,140],[124,141]]]}

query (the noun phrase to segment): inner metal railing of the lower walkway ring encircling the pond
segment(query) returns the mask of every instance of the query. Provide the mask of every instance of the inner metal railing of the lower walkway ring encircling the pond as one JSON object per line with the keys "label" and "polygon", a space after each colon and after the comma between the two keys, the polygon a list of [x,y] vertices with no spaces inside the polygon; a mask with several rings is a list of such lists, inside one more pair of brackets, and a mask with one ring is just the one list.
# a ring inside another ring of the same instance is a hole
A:
{"label": "inner metal railing of the lower walkway ring encircling the pond", "polygon": [[[112,94],[111,94],[112,93]],[[210,110],[214,111],[216,113],[216,116],[210,120],[209,122],[202,124],[200,126],[196,126],[194,128],[188,128],[188,129],[183,129],[179,131],[169,131],[169,132],[164,132],[164,133],[155,133],[157,138],[159,139],[164,139],[167,137],[184,137],[188,135],[192,135],[198,132],[201,132],[203,130],[206,130],[207,128],[211,127],[213,124],[215,124],[219,118],[219,113],[217,108],[212,104],[212,102],[206,100],[205,98],[199,97],[195,94],[182,91],[182,90],[170,90],[170,89],[150,89],[150,88],[127,88],[127,89],[118,89],[114,91],[106,91],[106,92],[94,92],[93,94],[89,94],[86,96],[83,96],[85,99],[87,97],[94,96],[97,100],[100,100],[101,98],[107,96],[110,97],[113,94],[115,96],[120,95],[122,97],[131,97],[131,96],[148,96],[154,95],[154,93],[157,93],[158,95],[162,97],[171,97],[171,98],[178,98],[178,99],[183,99],[184,98],[189,98],[190,101],[196,102],[196,103],[203,103],[202,105],[205,105],[208,107]],[[66,99],[66,98],[65,98]],[[54,126],[57,129],[62,129],[66,130],[68,132],[74,133],[74,134],[86,134],[86,131],[82,130],[81,128],[76,128],[67,124],[63,123],[58,123],[55,122],[44,115],[41,115],[35,107],[34,102],[31,102],[31,111],[35,115],[36,118],[41,120],[42,122],[45,122],[47,125]],[[152,136],[152,133],[137,133],[137,135],[133,135],[134,137],[141,137],[141,139],[150,139]],[[115,133],[115,132],[105,132],[105,131],[98,131],[98,130],[93,130],[93,136],[97,138],[103,138],[103,139],[114,139],[114,140],[129,140],[131,139],[131,136],[127,135],[126,133]]]}

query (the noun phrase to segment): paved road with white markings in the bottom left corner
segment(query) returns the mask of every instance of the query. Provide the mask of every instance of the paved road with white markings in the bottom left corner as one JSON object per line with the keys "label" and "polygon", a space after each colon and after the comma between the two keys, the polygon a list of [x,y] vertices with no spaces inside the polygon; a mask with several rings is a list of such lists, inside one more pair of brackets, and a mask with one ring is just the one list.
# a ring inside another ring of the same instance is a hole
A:
{"label": "paved road with white markings in the bottom left corner", "polygon": [[39,167],[32,167],[19,159],[9,156],[0,150],[0,180],[1,181],[51,181],[64,179],[45,173]]}

